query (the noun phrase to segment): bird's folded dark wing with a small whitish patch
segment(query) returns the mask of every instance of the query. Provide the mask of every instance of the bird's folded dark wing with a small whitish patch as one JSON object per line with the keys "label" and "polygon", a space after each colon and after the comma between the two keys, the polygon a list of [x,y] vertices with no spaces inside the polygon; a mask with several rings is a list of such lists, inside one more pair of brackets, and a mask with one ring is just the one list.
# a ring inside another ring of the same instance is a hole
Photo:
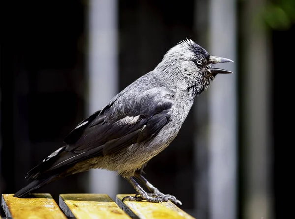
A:
{"label": "bird's folded dark wing with a small whitish patch", "polygon": [[[43,172],[116,153],[124,147],[143,142],[159,132],[172,116],[175,97],[167,88],[156,87],[142,94],[125,96],[120,96],[77,125],[65,138],[67,145],[46,158],[50,166],[46,165]],[[29,177],[34,174],[29,174]]]}

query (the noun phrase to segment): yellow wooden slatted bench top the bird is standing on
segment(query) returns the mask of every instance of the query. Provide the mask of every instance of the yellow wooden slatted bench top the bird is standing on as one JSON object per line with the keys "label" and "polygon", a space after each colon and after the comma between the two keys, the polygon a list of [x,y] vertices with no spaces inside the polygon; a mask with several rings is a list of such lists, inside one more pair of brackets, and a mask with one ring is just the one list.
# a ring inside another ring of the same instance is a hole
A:
{"label": "yellow wooden slatted bench top the bird is standing on", "polygon": [[2,194],[1,205],[7,219],[194,219],[170,201],[122,202],[128,195],[134,194],[118,194],[114,202],[106,194],[60,194],[57,204],[50,194]]}

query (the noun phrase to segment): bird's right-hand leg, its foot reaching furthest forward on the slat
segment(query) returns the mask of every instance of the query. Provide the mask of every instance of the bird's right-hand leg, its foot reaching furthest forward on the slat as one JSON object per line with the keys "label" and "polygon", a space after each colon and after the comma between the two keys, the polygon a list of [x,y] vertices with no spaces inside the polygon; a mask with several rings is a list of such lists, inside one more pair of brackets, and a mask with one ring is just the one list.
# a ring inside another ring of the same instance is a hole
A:
{"label": "bird's right-hand leg, its foot reaching furthest forward on the slat", "polygon": [[144,178],[140,173],[136,174],[136,179],[138,179],[140,182],[142,182],[147,188],[148,190],[150,190],[152,193],[148,194],[152,197],[159,197],[162,201],[172,201],[174,204],[180,204],[182,205],[181,201],[177,200],[175,196],[173,195],[165,195],[163,193],[161,193],[159,191],[159,189],[157,189],[156,187],[154,187],[150,182],[148,182],[148,180],[146,178]]}

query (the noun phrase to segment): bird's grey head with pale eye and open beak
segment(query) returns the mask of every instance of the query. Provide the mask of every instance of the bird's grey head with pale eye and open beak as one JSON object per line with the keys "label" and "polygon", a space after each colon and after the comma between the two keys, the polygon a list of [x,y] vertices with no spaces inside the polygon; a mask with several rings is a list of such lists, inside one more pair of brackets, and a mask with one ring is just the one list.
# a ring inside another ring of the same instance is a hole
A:
{"label": "bird's grey head with pale eye and open beak", "polygon": [[196,87],[200,93],[209,87],[217,74],[232,73],[212,66],[227,62],[233,61],[211,56],[194,41],[187,39],[172,47],[155,70],[164,77],[164,80],[167,79],[168,82],[183,89]]}

